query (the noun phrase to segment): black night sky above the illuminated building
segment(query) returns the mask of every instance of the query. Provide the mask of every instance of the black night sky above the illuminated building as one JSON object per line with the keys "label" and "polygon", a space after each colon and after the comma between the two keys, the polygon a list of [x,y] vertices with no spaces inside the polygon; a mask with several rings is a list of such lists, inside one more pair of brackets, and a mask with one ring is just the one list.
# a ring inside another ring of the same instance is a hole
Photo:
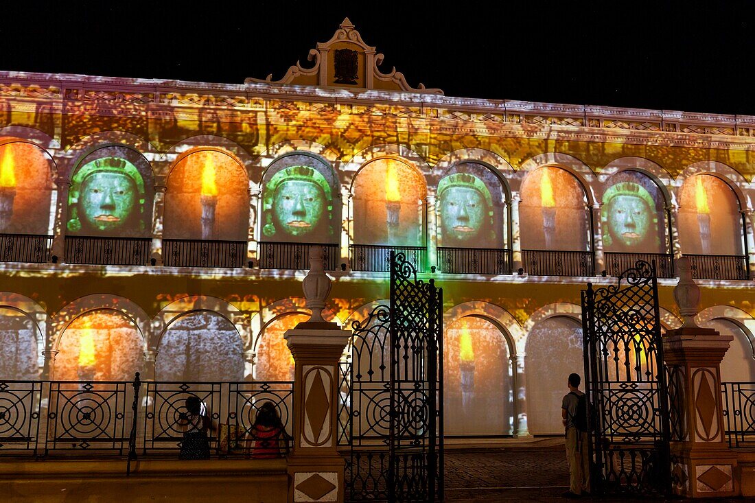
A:
{"label": "black night sky above the illuminated building", "polygon": [[3,5],[0,69],[279,79],[348,16],[384,72],[448,96],[755,115],[744,0],[45,3]]}

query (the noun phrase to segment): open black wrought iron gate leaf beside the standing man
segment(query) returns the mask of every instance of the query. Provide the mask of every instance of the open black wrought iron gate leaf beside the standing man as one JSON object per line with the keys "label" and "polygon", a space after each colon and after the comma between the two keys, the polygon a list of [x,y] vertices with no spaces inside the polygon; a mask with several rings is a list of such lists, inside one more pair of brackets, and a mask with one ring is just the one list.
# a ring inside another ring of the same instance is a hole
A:
{"label": "open black wrought iron gate leaf beside the standing man", "polygon": [[655,261],[582,291],[590,458],[598,493],[670,492],[669,411]]}

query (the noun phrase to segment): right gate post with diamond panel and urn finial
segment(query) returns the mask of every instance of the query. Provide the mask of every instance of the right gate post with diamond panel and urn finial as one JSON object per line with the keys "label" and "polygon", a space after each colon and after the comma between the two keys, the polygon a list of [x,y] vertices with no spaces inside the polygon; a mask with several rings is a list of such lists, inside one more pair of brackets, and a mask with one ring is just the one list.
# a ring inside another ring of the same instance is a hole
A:
{"label": "right gate post with diamond panel and urn finial", "polygon": [[673,290],[684,324],[664,336],[668,369],[673,492],[688,498],[737,495],[737,455],[726,443],[720,363],[731,335],[695,323],[700,289],[689,258],[676,261],[679,284]]}

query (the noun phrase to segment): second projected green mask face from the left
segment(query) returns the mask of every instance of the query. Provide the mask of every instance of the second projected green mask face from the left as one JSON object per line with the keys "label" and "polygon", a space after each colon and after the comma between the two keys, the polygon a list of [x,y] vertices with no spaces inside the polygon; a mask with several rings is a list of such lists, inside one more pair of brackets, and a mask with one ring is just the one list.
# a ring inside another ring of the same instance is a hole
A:
{"label": "second projected green mask face from the left", "polygon": [[315,229],[324,208],[322,190],[308,181],[284,181],[273,198],[278,227],[291,236],[303,236]]}

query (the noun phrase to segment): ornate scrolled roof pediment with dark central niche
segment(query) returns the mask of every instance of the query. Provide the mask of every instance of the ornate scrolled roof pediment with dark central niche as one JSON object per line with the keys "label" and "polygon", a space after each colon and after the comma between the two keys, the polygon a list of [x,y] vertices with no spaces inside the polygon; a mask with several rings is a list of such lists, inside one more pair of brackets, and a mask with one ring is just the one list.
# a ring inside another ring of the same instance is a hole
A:
{"label": "ornate scrolled roof pediment with dark central niche", "polygon": [[318,42],[317,48],[310,49],[307,60],[314,62],[312,68],[304,68],[297,61],[280,80],[273,80],[273,74],[270,74],[267,79],[249,77],[244,83],[443,94],[440,89],[428,89],[423,84],[412,88],[396,68],[390,73],[382,73],[377,66],[383,58],[383,54],[377,54],[374,47],[365,44],[347,17],[328,42]]}

